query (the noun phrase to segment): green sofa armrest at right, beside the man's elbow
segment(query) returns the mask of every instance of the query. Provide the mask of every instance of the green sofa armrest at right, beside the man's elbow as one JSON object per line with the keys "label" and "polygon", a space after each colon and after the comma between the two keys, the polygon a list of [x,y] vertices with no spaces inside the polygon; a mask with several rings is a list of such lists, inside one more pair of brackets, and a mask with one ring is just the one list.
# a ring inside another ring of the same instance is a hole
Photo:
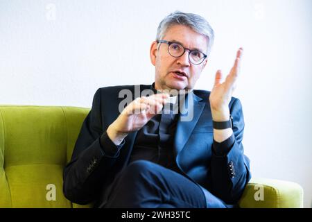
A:
{"label": "green sofa armrest at right, beside the man's elbow", "polygon": [[303,189],[295,182],[252,178],[239,200],[242,208],[302,208]]}

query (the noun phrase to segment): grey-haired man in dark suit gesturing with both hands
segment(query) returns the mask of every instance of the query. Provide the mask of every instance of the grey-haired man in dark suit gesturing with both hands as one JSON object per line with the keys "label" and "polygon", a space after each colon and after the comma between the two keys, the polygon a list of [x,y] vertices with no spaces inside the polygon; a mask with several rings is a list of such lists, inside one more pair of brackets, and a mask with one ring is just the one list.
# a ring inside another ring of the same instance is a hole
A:
{"label": "grey-haired man in dark suit gesturing with both hands", "polygon": [[[233,207],[250,180],[243,112],[232,92],[243,49],[224,82],[193,90],[214,32],[173,12],[150,47],[153,85],[103,87],[64,169],[64,195],[95,207]],[[124,98],[126,97],[126,98]]]}

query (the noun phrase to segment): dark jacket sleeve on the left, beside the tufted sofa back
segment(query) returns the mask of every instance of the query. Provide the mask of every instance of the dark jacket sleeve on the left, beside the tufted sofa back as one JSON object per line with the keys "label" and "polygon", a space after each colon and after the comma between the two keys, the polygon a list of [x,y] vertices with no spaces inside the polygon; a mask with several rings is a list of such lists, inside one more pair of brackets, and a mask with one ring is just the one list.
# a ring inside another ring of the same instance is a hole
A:
{"label": "dark jacket sleeve on the left, beside the tufted sofa back", "polygon": [[71,161],[64,167],[64,196],[82,205],[95,200],[105,175],[119,155],[119,148],[101,126],[101,89],[98,89],[92,109],[83,121]]}

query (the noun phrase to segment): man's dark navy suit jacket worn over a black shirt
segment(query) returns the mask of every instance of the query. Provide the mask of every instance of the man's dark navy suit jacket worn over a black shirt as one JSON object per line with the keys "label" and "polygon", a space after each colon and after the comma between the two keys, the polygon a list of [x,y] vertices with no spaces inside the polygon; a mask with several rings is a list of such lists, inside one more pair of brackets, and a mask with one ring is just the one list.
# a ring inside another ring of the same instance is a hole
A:
{"label": "man's dark navy suit jacket worn over a black shirt", "polygon": [[[150,85],[140,85],[141,90]],[[136,132],[125,137],[125,144],[117,151],[105,133],[119,116],[122,89],[130,89],[135,99],[135,86],[103,87],[96,91],[90,110],[78,135],[71,162],[64,168],[64,195],[73,203],[101,202],[103,192],[116,173],[128,164]],[[231,145],[221,153],[213,147],[213,128],[209,93],[193,90],[193,119],[178,121],[174,153],[177,166],[184,176],[197,182],[225,203],[236,203],[250,180],[249,160],[243,154],[243,112],[239,99],[232,98],[229,110],[233,117]],[[102,136],[102,137],[101,137]],[[100,142],[101,137],[101,142]],[[105,145],[106,144],[106,145]]]}

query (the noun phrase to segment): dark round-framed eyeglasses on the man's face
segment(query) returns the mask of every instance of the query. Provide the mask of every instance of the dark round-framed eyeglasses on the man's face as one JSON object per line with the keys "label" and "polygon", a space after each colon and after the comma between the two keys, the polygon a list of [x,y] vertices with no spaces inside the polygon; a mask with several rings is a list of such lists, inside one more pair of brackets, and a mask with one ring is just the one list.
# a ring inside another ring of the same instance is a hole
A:
{"label": "dark round-framed eyeglasses on the man's face", "polygon": [[168,53],[175,58],[181,57],[185,53],[185,51],[188,50],[189,51],[189,61],[193,65],[200,65],[200,63],[202,63],[205,60],[205,58],[207,58],[207,55],[205,55],[205,53],[202,53],[201,51],[198,51],[198,50],[187,49],[184,46],[182,46],[182,44],[179,44],[177,42],[157,40],[157,43],[168,44]]}

